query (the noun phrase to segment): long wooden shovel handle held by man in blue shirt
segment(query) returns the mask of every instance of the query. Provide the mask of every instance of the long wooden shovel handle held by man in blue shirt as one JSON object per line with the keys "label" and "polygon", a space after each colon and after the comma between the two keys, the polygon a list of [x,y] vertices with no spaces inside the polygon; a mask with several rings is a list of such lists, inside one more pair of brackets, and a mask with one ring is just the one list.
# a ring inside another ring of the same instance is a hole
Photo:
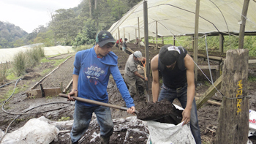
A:
{"label": "long wooden shovel handle held by man in blue shirt", "polygon": [[[59,96],[68,98],[67,94],[59,94]],[[102,105],[102,106],[105,106],[105,107],[112,107],[112,108],[116,108],[118,110],[125,110],[125,111],[128,110],[127,107],[121,107],[121,106],[118,106],[118,105],[111,105],[111,104],[107,104],[107,103],[104,103],[104,102],[97,102],[97,101],[94,101],[94,100],[91,100],[91,99],[84,99],[84,98],[81,98],[81,97],[78,97],[78,96],[71,96],[71,97],[75,100],[80,101],[80,102],[87,102],[87,103],[94,104],[94,105]],[[139,111],[135,110],[135,114],[138,114],[138,113],[139,113]]]}

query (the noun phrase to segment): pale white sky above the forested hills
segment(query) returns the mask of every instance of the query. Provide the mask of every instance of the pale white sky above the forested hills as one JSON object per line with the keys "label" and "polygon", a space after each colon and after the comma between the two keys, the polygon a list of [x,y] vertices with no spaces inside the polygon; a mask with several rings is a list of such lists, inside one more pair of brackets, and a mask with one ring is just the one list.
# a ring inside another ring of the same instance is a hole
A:
{"label": "pale white sky above the forested hills", "polygon": [[0,0],[0,21],[31,33],[50,22],[50,12],[77,7],[82,0]]}

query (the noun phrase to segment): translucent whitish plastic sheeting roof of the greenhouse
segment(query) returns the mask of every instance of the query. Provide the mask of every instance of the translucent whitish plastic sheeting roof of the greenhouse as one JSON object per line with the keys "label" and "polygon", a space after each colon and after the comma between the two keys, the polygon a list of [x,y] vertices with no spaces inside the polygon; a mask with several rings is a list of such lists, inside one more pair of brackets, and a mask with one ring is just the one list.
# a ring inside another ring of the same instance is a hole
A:
{"label": "translucent whitish plastic sheeting roof of the greenhouse", "polygon": [[[148,0],[148,36],[181,36],[195,33],[196,0]],[[200,0],[199,34],[212,32],[238,33],[244,0]],[[256,1],[249,1],[246,15],[247,32],[256,32]],[[138,26],[139,23],[139,26]],[[129,40],[144,37],[143,1],[135,5],[108,29],[113,37]]]}

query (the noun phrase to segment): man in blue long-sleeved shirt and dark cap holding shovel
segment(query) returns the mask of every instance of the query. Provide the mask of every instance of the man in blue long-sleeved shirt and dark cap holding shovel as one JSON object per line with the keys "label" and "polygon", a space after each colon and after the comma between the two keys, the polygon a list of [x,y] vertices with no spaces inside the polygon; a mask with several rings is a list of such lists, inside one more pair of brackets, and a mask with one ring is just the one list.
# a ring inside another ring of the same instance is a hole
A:
{"label": "man in blue long-sleeved shirt and dark cap holding shovel", "polygon": [[[111,51],[116,40],[108,31],[100,31],[96,37],[97,44],[88,50],[81,50],[75,55],[72,91],[70,96],[78,96],[98,102],[108,103],[107,86],[110,74],[116,82],[127,107],[127,113],[135,112],[135,104],[129,94],[124,79],[117,66],[117,56]],[[97,115],[100,126],[101,143],[109,143],[113,133],[113,121],[110,107],[75,102],[74,123],[70,132],[72,143],[78,143],[86,133],[92,113]]]}

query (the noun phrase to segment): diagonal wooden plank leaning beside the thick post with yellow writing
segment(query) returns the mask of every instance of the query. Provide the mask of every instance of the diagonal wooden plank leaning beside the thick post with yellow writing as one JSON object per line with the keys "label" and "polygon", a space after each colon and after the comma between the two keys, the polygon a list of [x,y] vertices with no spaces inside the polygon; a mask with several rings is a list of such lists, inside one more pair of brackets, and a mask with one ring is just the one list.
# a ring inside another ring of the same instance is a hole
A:
{"label": "diagonal wooden plank leaning beside the thick post with yellow writing", "polygon": [[[222,84],[222,75],[214,82],[214,86],[219,89],[220,86]],[[213,96],[216,92],[217,89],[214,86],[210,86],[207,91],[205,93],[203,93],[203,96],[200,96],[199,99],[197,99],[197,102],[195,102],[197,104],[197,110],[200,109],[200,107],[203,106],[203,104],[205,104],[208,99],[211,98],[211,96]]]}

